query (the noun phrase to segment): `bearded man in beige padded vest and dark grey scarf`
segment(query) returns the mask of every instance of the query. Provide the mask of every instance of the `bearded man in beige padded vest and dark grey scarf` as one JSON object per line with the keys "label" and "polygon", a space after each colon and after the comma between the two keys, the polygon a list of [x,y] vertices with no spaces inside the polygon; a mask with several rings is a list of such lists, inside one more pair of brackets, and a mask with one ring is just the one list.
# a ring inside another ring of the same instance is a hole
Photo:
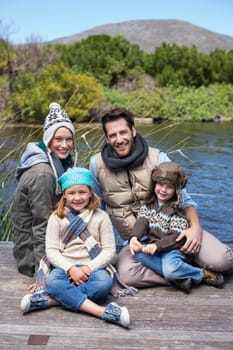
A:
{"label": "bearded man in beige padded vest and dark grey scarf", "polygon": [[[106,142],[101,153],[91,158],[90,170],[94,190],[100,196],[103,207],[106,207],[124,245],[116,264],[120,278],[136,288],[167,284],[161,276],[136,261],[126,244],[140,205],[144,202],[153,167],[170,159],[160,150],[148,146],[136,131],[132,113],[125,109],[115,108],[105,113],[102,127]],[[186,238],[180,250],[185,254],[194,254],[195,263],[210,270],[232,268],[232,250],[202,231],[196,203],[185,189],[183,197],[183,208],[190,228],[177,238],[177,241]]]}

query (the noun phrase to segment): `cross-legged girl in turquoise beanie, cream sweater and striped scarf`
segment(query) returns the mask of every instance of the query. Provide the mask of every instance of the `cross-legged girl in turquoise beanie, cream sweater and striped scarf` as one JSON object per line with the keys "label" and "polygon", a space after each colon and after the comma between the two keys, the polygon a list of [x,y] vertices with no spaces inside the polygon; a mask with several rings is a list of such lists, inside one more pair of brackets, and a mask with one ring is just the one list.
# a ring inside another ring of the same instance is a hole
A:
{"label": "cross-legged girl in turquoise beanie, cream sweater and striped scarf", "polygon": [[92,174],[85,168],[70,168],[58,183],[63,195],[46,232],[46,259],[52,265],[46,290],[37,285],[33,294],[23,297],[21,310],[25,313],[60,304],[129,327],[126,307],[97,304],[112,288],[110,263],[115,257],[115,240],[110,218],[99,209],[92,190]]}

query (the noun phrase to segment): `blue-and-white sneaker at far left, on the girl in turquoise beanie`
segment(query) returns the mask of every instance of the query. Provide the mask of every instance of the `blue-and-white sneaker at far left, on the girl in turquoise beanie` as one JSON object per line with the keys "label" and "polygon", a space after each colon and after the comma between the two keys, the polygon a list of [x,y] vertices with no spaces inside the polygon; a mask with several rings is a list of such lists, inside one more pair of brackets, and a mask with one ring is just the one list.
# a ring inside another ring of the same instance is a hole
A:
{"label": "blue-and-white sneaker at far left, on the girl in turquoise beanie", "polygon": [[26,313],[33,310],[47,309],[48,306],[48,294],[42,291],[40,293],[26,294],[21,300],[20,309],[23,313]]}

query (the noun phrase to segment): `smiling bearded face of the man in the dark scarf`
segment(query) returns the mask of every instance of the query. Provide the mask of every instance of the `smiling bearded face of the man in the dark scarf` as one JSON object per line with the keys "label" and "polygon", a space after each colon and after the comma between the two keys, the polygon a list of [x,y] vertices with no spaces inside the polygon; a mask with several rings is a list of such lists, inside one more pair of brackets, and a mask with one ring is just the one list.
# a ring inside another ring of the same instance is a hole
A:
{"label": "smiling bearded face of the man in the dark scarf", "polygon": [[128,156],[134,147],[134,137],[136,136],[136,129],[128,126],[124,118],[107,122],[106,139],[113,151],[119,158]]}

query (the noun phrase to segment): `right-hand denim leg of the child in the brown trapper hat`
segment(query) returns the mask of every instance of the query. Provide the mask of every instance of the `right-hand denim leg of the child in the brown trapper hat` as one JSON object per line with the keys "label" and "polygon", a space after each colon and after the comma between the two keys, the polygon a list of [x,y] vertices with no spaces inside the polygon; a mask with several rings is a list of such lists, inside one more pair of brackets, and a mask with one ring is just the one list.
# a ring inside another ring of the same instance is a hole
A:
{"label": "right-hand denim leg of the child in the brown trapper hat", "polygon": [[168,280],[192,278],[194,283],[202,280],[201,269],[186,262],[186,257],[178,250],[170,250],[161,254],[162,271]]}

